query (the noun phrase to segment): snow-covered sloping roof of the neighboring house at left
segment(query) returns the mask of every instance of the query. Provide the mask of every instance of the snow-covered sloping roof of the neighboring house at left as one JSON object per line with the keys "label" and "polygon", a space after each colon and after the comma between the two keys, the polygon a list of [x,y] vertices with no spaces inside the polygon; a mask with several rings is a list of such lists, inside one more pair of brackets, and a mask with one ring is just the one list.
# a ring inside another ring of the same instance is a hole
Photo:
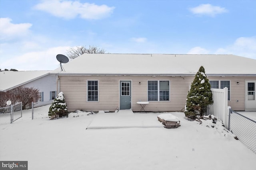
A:
{"label": "snow-covered sloping roof of the neighboring house at left", "polygon": [[0,91],[7,91],[42,76],[46,76],[50,71],[1,71]]}

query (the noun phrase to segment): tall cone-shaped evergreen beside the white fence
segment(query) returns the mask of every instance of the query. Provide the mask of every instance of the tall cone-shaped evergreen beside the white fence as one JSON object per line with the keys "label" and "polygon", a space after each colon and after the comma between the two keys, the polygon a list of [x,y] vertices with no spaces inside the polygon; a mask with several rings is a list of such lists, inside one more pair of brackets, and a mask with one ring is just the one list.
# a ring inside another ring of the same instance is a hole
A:
{"label": "tall cone-shaped evergreen beside the white fence", "polygon": [[213,104],[211,85],[201,66],[188,91],[184,113],[186,117],[196,119],[203,115],[204,109],[210,104]]}

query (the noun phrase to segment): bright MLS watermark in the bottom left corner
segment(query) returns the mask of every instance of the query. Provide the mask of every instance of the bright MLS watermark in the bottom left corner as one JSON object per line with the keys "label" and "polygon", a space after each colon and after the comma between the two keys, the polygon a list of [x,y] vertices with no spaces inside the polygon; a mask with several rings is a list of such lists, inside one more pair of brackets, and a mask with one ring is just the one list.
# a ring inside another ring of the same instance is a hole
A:
{"label": "bright MLS watermark in the bottom left corner", "polygon": [[0,161],[0,170],[28,170],[28,161]]}

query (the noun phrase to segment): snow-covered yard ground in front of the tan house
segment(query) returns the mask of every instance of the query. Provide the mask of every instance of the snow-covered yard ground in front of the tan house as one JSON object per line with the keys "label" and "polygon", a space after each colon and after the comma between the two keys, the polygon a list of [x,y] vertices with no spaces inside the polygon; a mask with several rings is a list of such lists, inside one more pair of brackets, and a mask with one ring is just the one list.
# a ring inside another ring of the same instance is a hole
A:
{"label": "snow-covered yard ground in front of the tan house", "polygon": [[[242,170],[256,154],[221,123],[188,121],[165,129],[160,113],[71,113],[31,120],[31,112],[0,125],[0,160],[28,160],[29,170]],[[162,113],[161,113],[162,114]],[[86,129],[87,128],[87,129]]]}

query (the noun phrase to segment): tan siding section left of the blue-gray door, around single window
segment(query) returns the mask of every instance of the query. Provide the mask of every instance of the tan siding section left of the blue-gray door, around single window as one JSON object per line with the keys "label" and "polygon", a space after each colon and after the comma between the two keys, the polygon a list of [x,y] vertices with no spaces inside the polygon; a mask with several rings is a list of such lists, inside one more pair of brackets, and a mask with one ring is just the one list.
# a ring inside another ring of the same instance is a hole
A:
{"label": "tan siding section left of the blue-gray door, around single window", "polygon": [[[59,76],[59,79],[69,111],[114,111],[118,107],[118,80],[104,76]],[[99,81],[98,102],[87,102],[87,80]]]}

